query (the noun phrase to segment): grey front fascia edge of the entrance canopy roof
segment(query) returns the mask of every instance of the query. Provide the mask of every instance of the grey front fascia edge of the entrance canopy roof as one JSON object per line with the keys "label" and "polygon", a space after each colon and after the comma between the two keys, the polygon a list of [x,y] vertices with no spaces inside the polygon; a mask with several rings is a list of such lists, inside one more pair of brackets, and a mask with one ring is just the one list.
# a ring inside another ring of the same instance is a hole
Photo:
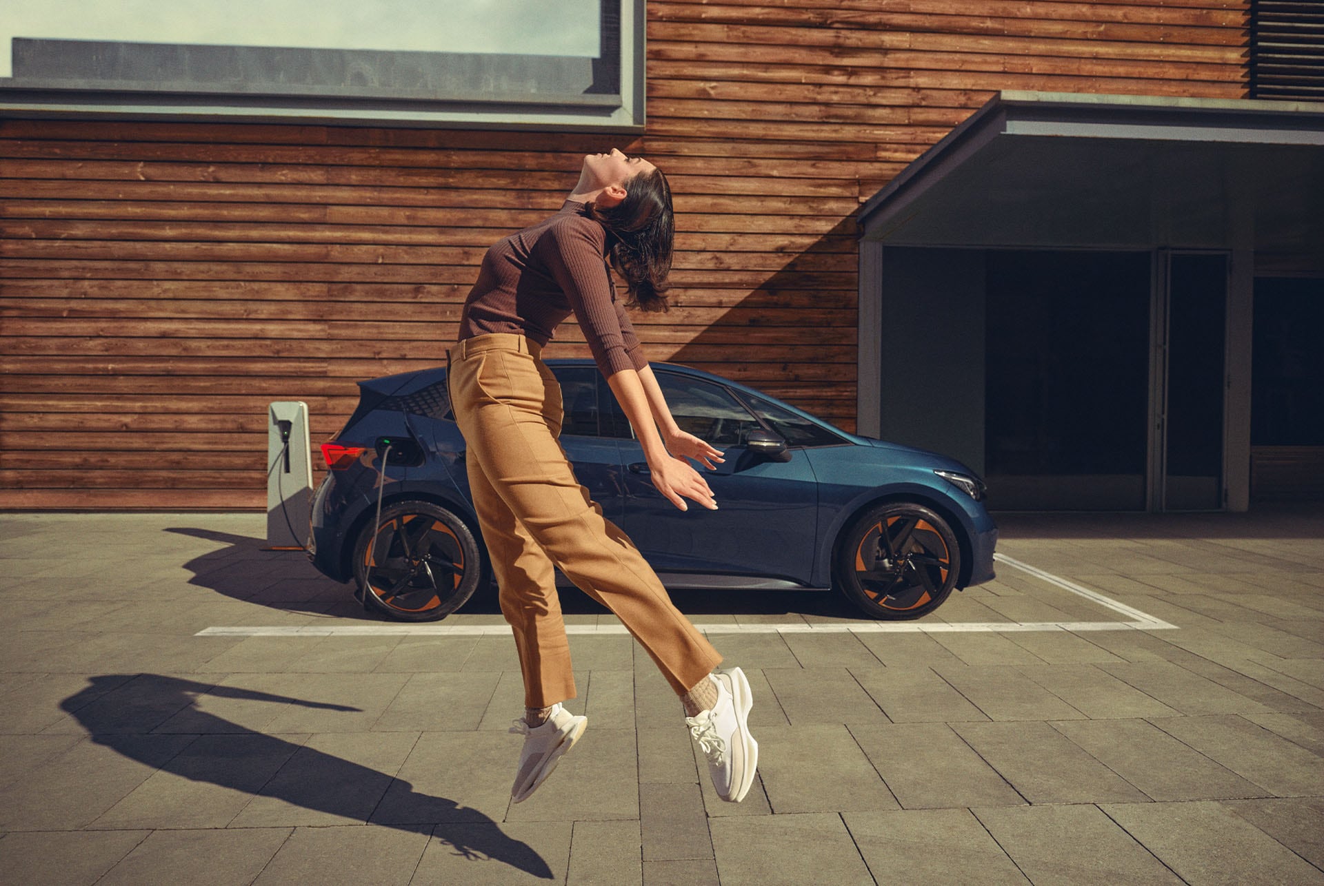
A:
{"label": "grey front fascia edge of the entrance canopy roof", "polygon": [[[1025,128],[1026,135],[1083,135],[1079,124],[1113,126],[1113,138],[1144,138],[1143,127],[1170,127],[1174,138],[1194,128],[1235,132],[1294,130],[1309,134],[1308,143],[1324,139],[1324,102],[1279,99],[1213,99],[1168,95],[1113,95],[1102,93],[1035,93],[1002,90],[980,106],[941,140],[912,160],[895,179],[859,209],[861,237],[873,235],[870,221],[884,209],[900,210],[911,194],[923,190],[931,175],[955,168],[969,153],[1006,132],[1016,122],[1061,122],[1051,127]],[[1128,124],[1136,128],[1127,130]],[[1182,128],[1185,127],[1185,130]],[[1153,130],[1149,130],[1152,135]],[[1103,131],[1095,131],[1102,135]],[[1274,139],[1280,141],[1280,139]]]}

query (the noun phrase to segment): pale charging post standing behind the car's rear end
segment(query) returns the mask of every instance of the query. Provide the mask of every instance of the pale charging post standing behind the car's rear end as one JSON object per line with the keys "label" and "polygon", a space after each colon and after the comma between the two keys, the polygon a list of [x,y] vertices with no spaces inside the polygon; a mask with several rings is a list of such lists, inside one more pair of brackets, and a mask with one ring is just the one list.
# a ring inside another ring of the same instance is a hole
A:
{"label": "pale charging post standing behind the car's rear end", "polygon": [[266,550],[302,550],[312,506],[308,405],[277,401],[266,410]]}

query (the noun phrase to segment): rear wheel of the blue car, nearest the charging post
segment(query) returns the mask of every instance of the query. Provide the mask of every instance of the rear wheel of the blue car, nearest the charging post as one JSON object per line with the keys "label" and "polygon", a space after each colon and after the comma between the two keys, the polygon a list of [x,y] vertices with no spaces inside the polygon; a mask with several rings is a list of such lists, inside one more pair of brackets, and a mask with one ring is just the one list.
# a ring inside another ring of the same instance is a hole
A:
{"label": "rear wheel of the blue car, nearest the charging post", "polygon": [[367,606],[401,622],[444,619],[482,581],[478,541],[465,521],[432,501],[397,501],[363,526],[355,579]]}

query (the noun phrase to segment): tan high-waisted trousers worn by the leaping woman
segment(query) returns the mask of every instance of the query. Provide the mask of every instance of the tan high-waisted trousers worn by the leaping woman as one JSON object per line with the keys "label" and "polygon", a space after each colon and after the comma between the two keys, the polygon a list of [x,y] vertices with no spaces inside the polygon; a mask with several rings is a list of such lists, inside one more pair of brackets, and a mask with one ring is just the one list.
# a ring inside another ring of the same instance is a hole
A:
{"label": "tan high-waisted trousers worn by the leaping woman", "polygon": [[575,697],[553,565],[612,610],[675,693],[685,694],[722,656],[673,606],[638,549],[575,479],[557,440],[561,389],[540,350],[524,336],[491,333],[449,352],[470,495],[500,608],[515,632],[524,705],[547,707]]}

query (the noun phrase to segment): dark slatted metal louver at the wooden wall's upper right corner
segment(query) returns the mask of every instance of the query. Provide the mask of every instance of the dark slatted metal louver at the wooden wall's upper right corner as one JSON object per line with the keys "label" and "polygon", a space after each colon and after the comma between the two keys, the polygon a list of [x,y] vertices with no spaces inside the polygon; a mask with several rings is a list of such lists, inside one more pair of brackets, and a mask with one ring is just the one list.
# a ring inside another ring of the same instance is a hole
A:
{"label": "dark slatted metal louver at the wooden wall's upper right corner", "polygon": [[1324,0],[1253,0],[1250,97],[1324,102]]}

